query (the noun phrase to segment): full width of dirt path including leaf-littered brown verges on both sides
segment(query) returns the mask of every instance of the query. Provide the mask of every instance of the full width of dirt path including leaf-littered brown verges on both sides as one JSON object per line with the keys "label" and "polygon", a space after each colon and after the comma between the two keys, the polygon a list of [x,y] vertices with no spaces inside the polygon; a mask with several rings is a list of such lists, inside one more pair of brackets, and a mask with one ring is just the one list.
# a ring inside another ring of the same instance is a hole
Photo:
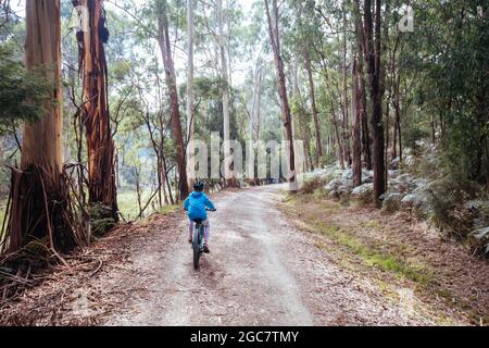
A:
{"label": "full width of dirt path including leaf-littered brown verges on both sides", "polygon": [[[0,315],[11,318],[10,323],[26,323],[26,313],[48,312],[29,314],[28,324],[468,323],[459,313],[448,320],[446,311],[424,302],[403,284],[391,286],[397,296],[386,296],[368,273],[346,268],[335,252],[325,252],[313,234],[298,229],[278,209],[280,189],[216,195],[217,212],[210,216],[212,253],[203,258],[199,272],[192,268],[183,215],[170,222],[158,217],[102,241],[97,254],[110,250],[111,256],[96,276],[75,274],[62,282],[54,276],[4,307]],[[117,244],[111,245],[111,238]],[[48,299],[50,307],[42,310]],[[15,311],[17,316],[12,315]]]}

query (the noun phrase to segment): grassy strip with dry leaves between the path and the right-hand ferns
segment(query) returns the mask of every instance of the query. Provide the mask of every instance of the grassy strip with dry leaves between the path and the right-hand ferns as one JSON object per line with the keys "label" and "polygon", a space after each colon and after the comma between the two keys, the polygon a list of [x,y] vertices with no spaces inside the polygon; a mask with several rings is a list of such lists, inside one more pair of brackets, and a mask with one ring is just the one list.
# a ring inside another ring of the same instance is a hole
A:
{"label": "grassy strip with dry leaves between the path and the right-hand ferns", "polygon": [[[391,285],[398,282],[414,289],[419,298],[455,308],[473,324],[489,323],[487,310],[476,308],[468,297],[453,294],[444,285],[448,271],[434,266],[409,240],[396,238],[403,226],[392,231],[378,216],[355,216],[341,202],[324,199],[317,190],[287,196],[280,209],[301,229],[314,235],[317,248],[337,256],[341,266],[354,273],[372,273],[386,296],[397,296]],[[450,318],[441,321],[450,323]]]}

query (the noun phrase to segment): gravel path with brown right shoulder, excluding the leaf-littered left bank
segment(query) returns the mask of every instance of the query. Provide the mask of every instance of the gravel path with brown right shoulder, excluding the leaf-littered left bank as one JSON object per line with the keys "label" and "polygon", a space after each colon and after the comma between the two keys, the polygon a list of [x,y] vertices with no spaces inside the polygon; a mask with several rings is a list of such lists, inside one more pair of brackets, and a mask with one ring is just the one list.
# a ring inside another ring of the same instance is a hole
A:
{"label": "gravel path with brown right shoulder, excluding the leaf-littered left bank", "polygon": [[[328,260],[277,209],[278,186],[223,192],[211,216],[212,253],[200,272],[183,233],[162,259],[141,252],[136,264],[156,275],[152,296],[109,325],[435,324],[414,310],[413,291],[390,301],[368,278]],[[180,229],[185,231],[186,222]],[[161,260],[161,261],[159,261]]]}

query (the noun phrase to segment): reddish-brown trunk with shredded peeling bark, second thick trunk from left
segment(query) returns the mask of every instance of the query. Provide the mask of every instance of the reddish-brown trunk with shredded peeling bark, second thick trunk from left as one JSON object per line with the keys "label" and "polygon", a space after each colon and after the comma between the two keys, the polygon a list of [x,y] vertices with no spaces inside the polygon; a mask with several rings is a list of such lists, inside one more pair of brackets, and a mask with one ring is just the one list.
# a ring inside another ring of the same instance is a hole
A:
{"label": "reddish-brown trunk with shredded peeling bark, second thick trunk from left", "polygon": [[77,0],[75,5],[88,10],[88,32],[78,32],[78,62],[83,77],[83,122],[88,154],[88,192],[90,204],[110,207],[112,217],[118,220],[115,185],[114,140],[109,116],[108,67],[104,44],[103,0]]}

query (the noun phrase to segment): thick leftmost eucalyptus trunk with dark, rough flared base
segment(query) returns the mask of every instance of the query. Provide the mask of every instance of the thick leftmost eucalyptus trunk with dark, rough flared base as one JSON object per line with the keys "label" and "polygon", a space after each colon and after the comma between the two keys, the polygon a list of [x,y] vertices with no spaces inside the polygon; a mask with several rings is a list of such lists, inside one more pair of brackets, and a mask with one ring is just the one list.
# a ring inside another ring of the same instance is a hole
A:
{"label": "thick leftmost eucalyptus trunk with dark, rough flared base", "polygon": [[[46,69],[52,92],[41,120],[24,128],[21,171],[12,174],[8,250],[13,252],[33,238],[48,237],[51,249],[67,251],[75,237],[62,174],[60,0],[27,0],[25,14],[25,65],[29,71]],[[5,247],[2,245],[0,252]]]}

